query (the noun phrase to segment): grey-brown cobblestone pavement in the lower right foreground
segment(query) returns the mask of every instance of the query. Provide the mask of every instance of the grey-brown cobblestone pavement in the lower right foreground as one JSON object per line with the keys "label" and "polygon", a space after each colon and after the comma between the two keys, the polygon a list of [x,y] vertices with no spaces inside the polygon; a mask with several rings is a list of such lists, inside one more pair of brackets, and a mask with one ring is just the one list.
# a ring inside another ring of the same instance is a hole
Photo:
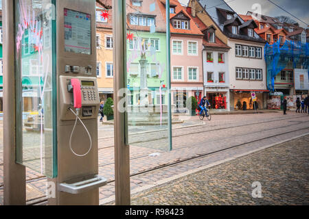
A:
{"label": "grey-brown cobblestone pavement in the lower right foreground", "polygon": [[[131,204],[309,205],[308,142],[304,136],[187,175],[133,195]],[[252,196],[255,181],[262,198]]]}

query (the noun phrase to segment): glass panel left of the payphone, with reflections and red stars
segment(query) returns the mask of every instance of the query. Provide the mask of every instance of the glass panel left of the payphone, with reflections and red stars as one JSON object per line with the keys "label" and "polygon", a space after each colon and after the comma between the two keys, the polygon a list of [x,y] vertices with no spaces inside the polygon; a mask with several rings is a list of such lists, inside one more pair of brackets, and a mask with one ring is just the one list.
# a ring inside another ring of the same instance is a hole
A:
{"label": "glass panel left of the payphone, with reflections and red stars", "polygon": [[14,12],[16,162],[47,177],[57,174],[52,9],[52,0],[16,0]]}

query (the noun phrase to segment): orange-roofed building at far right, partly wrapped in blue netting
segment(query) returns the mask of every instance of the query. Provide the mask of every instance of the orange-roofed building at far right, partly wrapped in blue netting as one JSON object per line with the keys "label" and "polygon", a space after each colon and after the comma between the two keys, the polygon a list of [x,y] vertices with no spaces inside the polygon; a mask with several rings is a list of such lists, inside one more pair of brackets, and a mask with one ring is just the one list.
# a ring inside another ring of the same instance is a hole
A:
{"label": "orange-roofed building at far right, partly wrapped in blue netting", "polygon": [[[308,42],[307,30],[297,24],[282,23],[277,18],[253,12],[247,12],[246,15],[240,16],[244,21],[254,18],[255,23],[258,24],[255,31],[267,41],[269,45],[268,53],[270,48],[276,47],[273,46],[274,43],[279,44],[279,51],[282,51],[278,59],[273,59],[273,62],[269,62],[267,66],[267,70],[270,72],[268,75],[275,75],[273,85],[271,81],[267,81],[268,87],[273,86],[273,91],[283,95],[308,94],[307,86],[297,86],[301,81],[307,84],[308,81],[305,80],[308,77],[302,79],[295,77],[295,69],[308,69],[308,64],[303,61],[308,57],[304,57],[304,55],[301,55],[303,52],[299,51],[306,47],[302,47],[301,44],[305,45]],[[270,51],[270,53],[273,53],[273,51]],[[275,74],[272,73],[273,70],[276,70]],[[271,79],[271,77],[268,78]]]}

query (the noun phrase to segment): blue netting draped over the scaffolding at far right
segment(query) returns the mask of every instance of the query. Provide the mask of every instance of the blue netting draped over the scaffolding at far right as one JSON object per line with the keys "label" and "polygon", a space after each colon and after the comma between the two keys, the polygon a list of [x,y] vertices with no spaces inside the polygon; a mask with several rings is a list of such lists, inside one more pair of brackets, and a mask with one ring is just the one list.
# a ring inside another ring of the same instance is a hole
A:
{"label": "blue netting draped over the scaffolding at far right", "polygon": [[301,66],[304,69],[309,69],[308,55],[308,43],[295,42],[292,40],[286,40],[283,45],[280,45],[280,40],[273,44],[267,43],[264,48],[264,58],[267,69],[268,90],[275,90],[275,76],[291,62],[293,68]]}

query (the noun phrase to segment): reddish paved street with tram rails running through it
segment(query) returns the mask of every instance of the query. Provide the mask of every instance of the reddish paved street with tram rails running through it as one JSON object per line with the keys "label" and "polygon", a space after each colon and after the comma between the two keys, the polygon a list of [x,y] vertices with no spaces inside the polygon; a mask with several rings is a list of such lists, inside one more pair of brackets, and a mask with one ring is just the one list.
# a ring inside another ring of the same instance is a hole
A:
{"label": "reddish paved street with tram rails running through it", "polygon": [[[191,118],[187,123],[189,122],[201,124],[198,116]],[[289,140],[295,136],[309,133],[309,116],[295,114],[295,112],[288,112],[286,116],[281,113],[214,115],[211,121],[203,122],[205,125],[198,125],[197,127],[173,126],[172,151],[156,148],[158,144],[163,144],[166,140],[158,139],[154,132],[133,135],[136,143],[130,145],[130,173],[135,176],[131,177],[131,189],[135,190],[151,185],[160,179],[177,175],[179,172],[193,170],[199,166],[205,166],[211,162],[259,148],[262,145]],[[146,143],[149,144],[148,147],[145,146]],[[227,150],[229,147],[240,144],[244,145],[234,150]],[[111,181],[108,185],[100,188],[100,200],[104,203],[106,198],[113,198],[115,194],[113,137],[100,138],[99,147],[99,174]],[[218,150],[225,150],[225,153],[214,153]],[[151,153],[159,153],[159,155],[150,157]],[[214,154],[207,159],[195,159],[190,164],[169,166],[151,172],[151,174],[150,172],[141,174],[145,170],[171,165],[180,160],[207,153]],[[0,150],[0,164],[2,160],[3,154]],[[27,168],[28,200],[45,196],[47,180],[42,177],[39,173]],[[1,185],[3,185],[3,166],[0,165],[0,205],[1,198],[3,198],[1,195],[3,187]],[[35,191],[35,195],[33,191]]]}

